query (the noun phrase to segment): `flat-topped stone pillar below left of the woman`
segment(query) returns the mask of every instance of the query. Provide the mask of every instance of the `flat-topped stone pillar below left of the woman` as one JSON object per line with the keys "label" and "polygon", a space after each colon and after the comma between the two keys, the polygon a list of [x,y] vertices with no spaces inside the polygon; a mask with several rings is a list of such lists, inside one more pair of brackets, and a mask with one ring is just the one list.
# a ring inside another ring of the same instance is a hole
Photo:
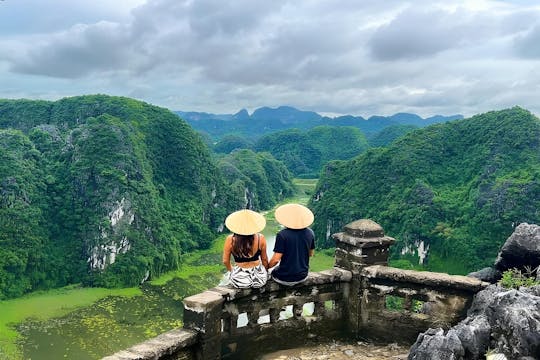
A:
{"label": "flat-topped stone pillar below left of the woman", "polygon": [[221,359],[221,314],[223,296],[213,291],[189,296],[184,303],[184,328],[196,330],[197,360]]}

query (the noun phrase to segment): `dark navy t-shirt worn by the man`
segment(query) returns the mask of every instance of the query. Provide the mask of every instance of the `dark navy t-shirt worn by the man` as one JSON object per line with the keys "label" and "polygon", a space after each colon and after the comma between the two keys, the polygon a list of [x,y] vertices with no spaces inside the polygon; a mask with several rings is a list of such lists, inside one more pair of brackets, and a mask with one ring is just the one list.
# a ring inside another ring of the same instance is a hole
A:
{"label": "dark navy t-shirt worn by the man", "polygon": [[283,281],[300,281],[309,271],[309,250],[315,249],[315,234],[310,228],[285,228],[277,233],[274,252],[283,254],[272,276]]}

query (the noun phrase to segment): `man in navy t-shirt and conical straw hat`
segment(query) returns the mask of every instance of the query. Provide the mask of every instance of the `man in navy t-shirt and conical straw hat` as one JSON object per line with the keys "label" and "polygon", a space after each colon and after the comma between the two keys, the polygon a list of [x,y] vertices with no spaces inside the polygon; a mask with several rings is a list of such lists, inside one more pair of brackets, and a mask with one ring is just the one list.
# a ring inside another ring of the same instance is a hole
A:
{"label": "man in navy t-shirt and conical straw hat", "polygon": [[274,255],[268,267],[272,278],[282,285],[296,285],[306,280],[309,258],[315,252],[315,235],[309,225],[314,216],[311,210],[300,204],[285,204],[276,209],[276,220],[285,229],[276,235]]}

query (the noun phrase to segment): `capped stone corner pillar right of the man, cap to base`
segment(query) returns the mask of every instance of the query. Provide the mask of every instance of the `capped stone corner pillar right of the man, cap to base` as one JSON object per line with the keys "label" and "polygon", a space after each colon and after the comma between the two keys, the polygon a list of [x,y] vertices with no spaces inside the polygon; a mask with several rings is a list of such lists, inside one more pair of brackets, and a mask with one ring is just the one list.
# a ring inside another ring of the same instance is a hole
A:
{"label": "capped stone corner pillar right of the man, cap to base", "polygon": [[336,241],[335,266],[353,274],[345,314],[347,328],[351,335],[365,337],[360,329],[369,320],[366,304],[370,296],[364,289],[360,270],[370,265],[388,265],[388,248],[395,239],[385,236],[382,227],[369,219],[353,221],[345,225],[344,232],[332,237]]}

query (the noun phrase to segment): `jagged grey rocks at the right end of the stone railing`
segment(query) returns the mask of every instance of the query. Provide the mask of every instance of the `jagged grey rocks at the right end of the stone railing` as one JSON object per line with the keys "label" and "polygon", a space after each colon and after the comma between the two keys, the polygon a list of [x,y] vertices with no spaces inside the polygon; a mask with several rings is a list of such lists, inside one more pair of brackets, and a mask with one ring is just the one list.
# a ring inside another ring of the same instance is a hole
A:
{"label": "jagged grey rocks at the right end of the stone railing", "polygon": [[[501,248],[494,267],[469,276],[495,282],[506,270],[534,273],[539,265],[540,227],[523,223]],[[420,334],[409,359],[484,359],[488,351],[508,359],[540,359],[540,285],[520,289],[490,285],[476,294],[467,318],[459,324],[448,331],[438,328]]]}

